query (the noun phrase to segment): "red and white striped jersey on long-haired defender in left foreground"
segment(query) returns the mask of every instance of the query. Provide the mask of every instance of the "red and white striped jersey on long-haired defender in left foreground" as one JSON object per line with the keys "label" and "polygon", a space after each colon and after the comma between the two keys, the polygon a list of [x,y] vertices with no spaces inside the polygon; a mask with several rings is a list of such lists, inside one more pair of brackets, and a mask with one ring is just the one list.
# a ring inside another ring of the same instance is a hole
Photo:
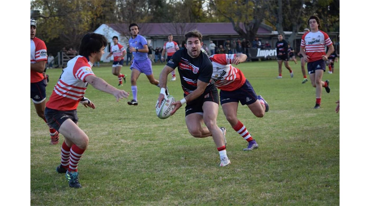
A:
{"label": "red and white striped jersey on long-haired defender in left foreground", "polygon": [[92,65],[86,57],[80,55],[69,60],[49,101],[46,102],[46,107],[61,111],[77,109],[78,102],[84,97],[88,85],[85,78],[95,75],[91,70]]}

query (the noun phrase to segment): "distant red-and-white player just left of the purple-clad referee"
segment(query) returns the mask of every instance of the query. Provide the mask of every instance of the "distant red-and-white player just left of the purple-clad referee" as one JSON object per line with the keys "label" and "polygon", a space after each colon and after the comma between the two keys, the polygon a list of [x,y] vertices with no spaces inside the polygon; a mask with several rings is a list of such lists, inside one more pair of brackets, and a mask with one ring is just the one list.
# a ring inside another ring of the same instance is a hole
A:
{"label": "distant red-and-white player just left of the purple-clad referee", "polygon": [[118,43],[118,37],[114,36],[112,38],[113,46],[111,46],[111,52],[107,56],[107,59],[113,55],[113,65],[112,65],[112,74],[118,77],[118,86],[122,86],[122,79],[126,83],[126,75],[121,74],[121,68],[123,66],[123,59],[126,55],[125,47]]}

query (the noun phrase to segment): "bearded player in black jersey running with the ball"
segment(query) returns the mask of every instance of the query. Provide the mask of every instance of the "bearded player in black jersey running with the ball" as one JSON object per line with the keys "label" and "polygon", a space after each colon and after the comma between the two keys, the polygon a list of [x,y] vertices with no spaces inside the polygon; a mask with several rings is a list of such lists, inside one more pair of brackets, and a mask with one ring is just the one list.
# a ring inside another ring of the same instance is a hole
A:
{"label": "bearded player in black jersey running with the ball", "polygon": [[[175,109],[171,115],[186,103],[185,122],[190,134],[196,138],[212,136],[219,151],[220,166],[228,166],[230,160],[226,155],[226,129],[219,128],[216,124],[218,92],[215,85],[210,82],[212,63],[208,56],[201,52],[202,34],[198,30],[187,32],[185,43],[185,49],[176,51],[161,72],[159,77],[161,93],[158,101],[167,98],[165,94],[167,75],[178,67],[184,98],[173,103]],[[203,127],[203,123],[206,127]]]}

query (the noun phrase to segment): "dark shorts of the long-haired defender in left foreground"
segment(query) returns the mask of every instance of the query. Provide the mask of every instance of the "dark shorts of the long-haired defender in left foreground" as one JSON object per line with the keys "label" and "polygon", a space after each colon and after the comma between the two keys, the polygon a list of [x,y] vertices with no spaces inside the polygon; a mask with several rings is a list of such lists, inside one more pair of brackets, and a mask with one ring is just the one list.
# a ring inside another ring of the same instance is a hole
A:
{"label": "dark shorts of the long-haired defender in left foreground", "polygon": [[77,109],[70,111],[60,111],[56,109],[45,108],[45,118],[47,123],[57,131],[60,125],[67,119],[72,119],[74,123],[78,122]]}

